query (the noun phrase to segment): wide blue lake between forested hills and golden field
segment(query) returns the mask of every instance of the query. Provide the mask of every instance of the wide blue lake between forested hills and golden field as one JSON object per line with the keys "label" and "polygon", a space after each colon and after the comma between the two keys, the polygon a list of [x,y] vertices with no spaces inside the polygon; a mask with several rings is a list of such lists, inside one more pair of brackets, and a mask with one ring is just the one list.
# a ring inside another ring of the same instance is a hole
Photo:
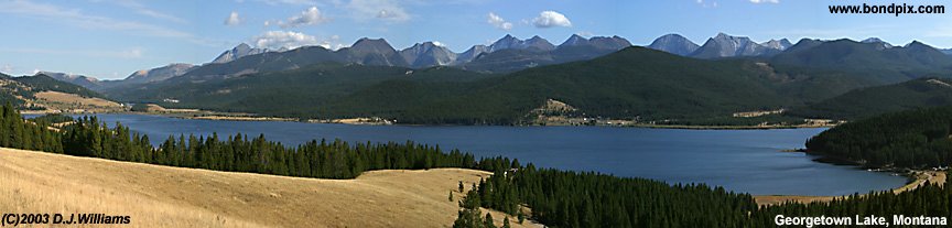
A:
{"label": "wide blue lake between forested hills and golden field", "polygon": [[160,143],[170,134],[241,132],[284,144],[312,139],[440,144],[476,156],[504,155],[523,164],[669,183],[706,183],[755,195],[846,195],[901,186],[906,177],[813,162],[803,148],[824,129],[679,130],[613,127],[420,127],[190,120],[145,115],[98,115]]}

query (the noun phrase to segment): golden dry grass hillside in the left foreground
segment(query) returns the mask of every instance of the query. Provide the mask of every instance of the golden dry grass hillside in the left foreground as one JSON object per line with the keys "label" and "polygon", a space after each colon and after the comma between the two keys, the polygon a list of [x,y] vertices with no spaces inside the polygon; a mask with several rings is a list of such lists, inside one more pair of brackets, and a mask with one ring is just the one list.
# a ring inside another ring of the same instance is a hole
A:
{"label": "golden dry grass hillside in the left foreground", "polygon": [[[116,227],[450,227],[458,209],[450,192],[458,200],[458,181],[468,189],[486,175],[434,169],[316,180],[0,149],[0,213],[131,216],[131,226]],[[493,217],[501,226],[502,214]]]}

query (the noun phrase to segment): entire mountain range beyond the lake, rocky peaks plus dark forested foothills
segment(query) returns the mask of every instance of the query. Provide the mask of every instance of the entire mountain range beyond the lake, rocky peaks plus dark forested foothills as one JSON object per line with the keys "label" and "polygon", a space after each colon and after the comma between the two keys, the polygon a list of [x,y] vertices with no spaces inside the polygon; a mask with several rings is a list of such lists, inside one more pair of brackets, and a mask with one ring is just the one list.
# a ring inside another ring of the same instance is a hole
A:
{"label": "entire mountain range beyond the lake, rocky peaks plus dark forested foothills", "polygon": [[[853,109],[836,99],[855,100],[840,97],[858,93],[857,88],[918,78],[944,82],[942,77],[952,75],[948,50],[920,42],[901,46],[878,39],[757,43],[718,33],[704,45],[667,34],[647,47],[632,47],[619,36],[572,35],[553,45],[540,36],[506,35],[455,53],[437,42],[396,50],[383,39],[360,39],[339,50],[268,51],[240,44],[212,63],[170,64],[122,80],[43,75],[127,102],[302,118],[374,116],[473,124],[523,121],[527,110],[549,99],[591,116],[682,123],[712,123],[711,118],[736,111],[778,108],[791,108],[790,116],[796,117],[857,118],[842,113],[864,108]],[[722,85],[725,82],[729,84]],[[697,100],[699,96],[708,98]],[[928,100],[933,99],[930,96],[907,97],[917,98],[911,106],[935,104]],[[163,102],[166,99],[181,104]]]}

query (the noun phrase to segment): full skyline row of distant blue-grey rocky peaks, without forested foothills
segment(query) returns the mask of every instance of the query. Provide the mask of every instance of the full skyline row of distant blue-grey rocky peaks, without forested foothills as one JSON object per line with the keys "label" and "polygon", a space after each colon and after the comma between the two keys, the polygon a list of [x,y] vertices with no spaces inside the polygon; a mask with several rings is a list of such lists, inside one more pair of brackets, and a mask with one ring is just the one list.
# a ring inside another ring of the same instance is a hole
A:
{"label": "full skyline row of distant blue-grey rocky peaks, without forested foothills", "polygon": [[[808,42],[801,43],[801,42]],[[801,40],[796,46],[819,45],[825,41]],[[867,39],[859,43],[876,44],[877,48],[889,50],[894,46],[879,39]],[[186,75],[198,69],[193,76],[236,76],[259,72],[274,72],[300,68],[302,66],[335,62],[363,65],[402,66],[410,68],[426,68],[434,66],[453,66],[467,70],[485,73],[510,73],[529,67],[591,59],[616,52],[631,44],[618,36],[595,36],[585,39],[572,35],[560,45],[553,45],[540,36],[520,40],[505,35],[489,45],[474,45],[463,53],[455,53],[435,42],[416,43],[413,46],[394,50],[382,39],[360,39],[350,47],[337,51],[318,46],[304,46],[293,50],[271,51],[256,48],[248,44],[239,44],[227,50],[203,65],[170,64],[152,69],[137,70],[126,79],[98,80],[95,77],[64,73],[44,72],[53,78],[73,83],[95,90],[113,87],[130,87],[144,83],[160,82],[171,77]],[[756,43],[745,36],[734,36],[718,33],[708,39],[704,45],[688,40],[679,34],[666,34],[656,39],[647,47],[668,53],[696,58],[727,57],[770,57],[793,47],[787,39],[770,40]],[[950,50],[939,50],[940,53],[952,54]],[[252,59],[232,63],[248,56]]]}

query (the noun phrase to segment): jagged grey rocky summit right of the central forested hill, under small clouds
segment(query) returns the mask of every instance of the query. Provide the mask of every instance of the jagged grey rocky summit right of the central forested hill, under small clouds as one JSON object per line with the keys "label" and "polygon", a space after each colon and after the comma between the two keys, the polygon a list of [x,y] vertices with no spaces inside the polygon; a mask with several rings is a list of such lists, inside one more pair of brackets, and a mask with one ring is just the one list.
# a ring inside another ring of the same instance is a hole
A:
{"label": "jagged grey rocky summit right of the central forested hill, under small clouds", "polygon": [[739,56],[759,56],[779,53],[780,50],[770,48],[746,36],[732,36],[718,33],[691,54],[697,58],[722,58]]}

